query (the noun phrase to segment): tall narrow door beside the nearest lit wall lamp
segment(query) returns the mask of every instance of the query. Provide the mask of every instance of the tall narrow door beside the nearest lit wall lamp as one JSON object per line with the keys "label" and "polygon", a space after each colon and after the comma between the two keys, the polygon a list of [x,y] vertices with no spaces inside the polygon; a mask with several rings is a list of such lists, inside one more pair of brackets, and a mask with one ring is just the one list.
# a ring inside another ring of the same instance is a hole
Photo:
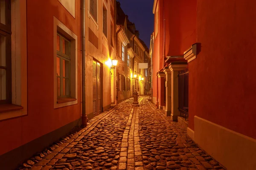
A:
{"label": "tall narrow door beside the nearest lit wall lamp", "polygon": [[93,114],[102,112],[101,64],[93,60]]}

